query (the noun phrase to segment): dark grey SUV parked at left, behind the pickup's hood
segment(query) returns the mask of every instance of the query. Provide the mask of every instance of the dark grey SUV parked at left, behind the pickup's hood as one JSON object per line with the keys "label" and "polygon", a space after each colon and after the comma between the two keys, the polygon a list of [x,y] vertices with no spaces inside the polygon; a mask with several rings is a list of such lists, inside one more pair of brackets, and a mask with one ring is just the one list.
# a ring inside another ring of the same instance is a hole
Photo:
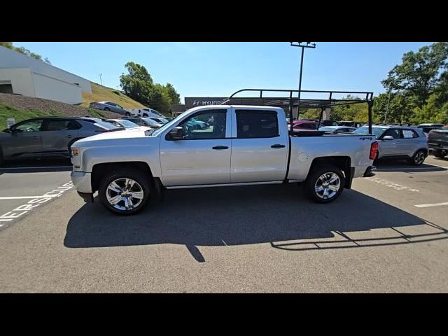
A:
{"label": "dark grey SUV parked at left, behind the pickup's hood", "polygon": [[0,164],[18,158],[66,157],[73,142],[116,129],[97,118],[24,120],[0,132]]}

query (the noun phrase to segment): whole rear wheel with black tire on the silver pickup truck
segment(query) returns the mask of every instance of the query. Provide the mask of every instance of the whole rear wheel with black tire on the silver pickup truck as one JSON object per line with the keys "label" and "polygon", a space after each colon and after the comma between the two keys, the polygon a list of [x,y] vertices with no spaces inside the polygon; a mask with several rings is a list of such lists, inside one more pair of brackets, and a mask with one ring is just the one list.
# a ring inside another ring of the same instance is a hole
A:
{"label": "whole rear wheel with black tire on the silver pickup truck", "polygon": [[345,178],[341,169],[333,165],[314,167],[304,184],[307,197],[317,203],[329,203],[337,199],[344,190]]}

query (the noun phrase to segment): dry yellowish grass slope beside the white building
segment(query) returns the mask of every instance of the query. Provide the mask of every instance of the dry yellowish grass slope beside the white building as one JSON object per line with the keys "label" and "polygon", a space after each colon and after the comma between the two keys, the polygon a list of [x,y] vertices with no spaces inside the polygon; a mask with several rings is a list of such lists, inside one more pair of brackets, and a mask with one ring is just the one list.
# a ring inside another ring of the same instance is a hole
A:
{"label": "dry yellowish grass slope beside the white building", "polygon": [[90,102],[115,102],[125,109],[139,109],[144,107],[118,90],[93,82],[90,82],[90,85],[92,86],[92,93],[83,92],[83,103],[80,106],[88,107]]}

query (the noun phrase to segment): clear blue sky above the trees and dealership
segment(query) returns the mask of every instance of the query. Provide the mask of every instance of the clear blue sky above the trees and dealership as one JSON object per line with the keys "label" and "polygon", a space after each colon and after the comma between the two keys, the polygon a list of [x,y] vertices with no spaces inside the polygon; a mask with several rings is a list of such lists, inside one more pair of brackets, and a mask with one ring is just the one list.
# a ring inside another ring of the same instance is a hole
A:
{"label": "clear blue sky above the trees and dealership", "polygon": [[[381,80],[407,51],[430,42],[316,42],[305,49],[303,90],[384,92]],[[15,42],[52,65],[114,89],[125,63],[172,83],[183,97],[228,97],[242,88],[297,90],[300,48],[289,42]]]}

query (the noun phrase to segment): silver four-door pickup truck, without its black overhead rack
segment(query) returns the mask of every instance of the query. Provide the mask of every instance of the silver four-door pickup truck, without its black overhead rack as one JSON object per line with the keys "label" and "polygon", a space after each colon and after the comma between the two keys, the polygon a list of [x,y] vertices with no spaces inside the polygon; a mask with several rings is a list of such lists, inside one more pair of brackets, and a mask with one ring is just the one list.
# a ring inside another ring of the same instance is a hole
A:
{"label": "silver four-door pickup truck, without its black overhead rack", "polygon": [[[207,127],[190,127],[191,120]],[[163,190],[304,182],[311,200],[336,200],[353,178],[371,176],[370,135],[288,134],[283,109],[200,106],[158,130],[95,135],[71,146],[71,180],[86,202],[134,214]]]}

